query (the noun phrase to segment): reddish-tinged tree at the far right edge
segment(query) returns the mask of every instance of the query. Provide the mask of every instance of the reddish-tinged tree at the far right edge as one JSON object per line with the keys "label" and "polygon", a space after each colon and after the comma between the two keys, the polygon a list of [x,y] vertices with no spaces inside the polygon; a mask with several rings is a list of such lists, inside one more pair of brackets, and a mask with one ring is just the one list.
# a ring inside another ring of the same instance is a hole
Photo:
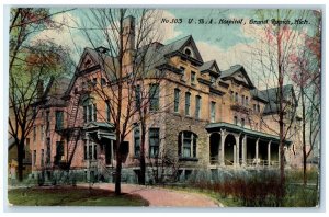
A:
{"label": "reddish-tinged tree at the far right edge", "polygon": [[299,89],[300,95],[304,184],[307,184],[307,159],[319,139],[320,130],[320,16],[317,11],[314,13],[318,20],[315,25],[318,30],[314,36],[305,34],[305,46],[297,47],[291,56],[291,67],[294,71],[292,80]]}

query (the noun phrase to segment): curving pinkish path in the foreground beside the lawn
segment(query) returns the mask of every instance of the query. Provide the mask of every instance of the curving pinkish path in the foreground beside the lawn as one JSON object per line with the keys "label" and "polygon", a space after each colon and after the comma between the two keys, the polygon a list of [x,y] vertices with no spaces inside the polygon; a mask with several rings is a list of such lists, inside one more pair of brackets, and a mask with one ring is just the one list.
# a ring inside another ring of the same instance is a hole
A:
{"label": "curving pinkish path in the foreground beside the lawn", "polygon": [[[100,183],[93,187],[114,191],[114,184]],[[215,199],[190,192],[174,191],[161,187],[122,184],[122,192],[137,194],[149,202],[149,206],[161,207],[223,207]]]}

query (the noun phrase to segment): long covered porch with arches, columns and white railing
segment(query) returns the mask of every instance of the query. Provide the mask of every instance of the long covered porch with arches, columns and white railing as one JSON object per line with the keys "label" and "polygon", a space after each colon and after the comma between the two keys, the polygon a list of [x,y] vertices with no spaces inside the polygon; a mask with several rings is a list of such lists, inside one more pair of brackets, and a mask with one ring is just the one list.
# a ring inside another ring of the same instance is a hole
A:
{"label": "long covered porch with arches, columns and white railing", "polygon": [[[279,167],[280,138],[228,123],[206,126],[211,167]],[[285,141],[290,144],[290,141]]]}

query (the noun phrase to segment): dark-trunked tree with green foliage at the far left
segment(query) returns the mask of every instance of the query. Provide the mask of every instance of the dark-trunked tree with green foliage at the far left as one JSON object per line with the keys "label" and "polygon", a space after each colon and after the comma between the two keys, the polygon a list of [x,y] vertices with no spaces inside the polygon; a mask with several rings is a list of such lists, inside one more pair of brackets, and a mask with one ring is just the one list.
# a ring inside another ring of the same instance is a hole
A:
{"label": "dark-trunked tree with green foliage at the far left", "polygon": [[[15,8],[10,20],[9,59],[9,134],[18,148],[18,178],[23,180],[23,152],[37,110],[34,103],[43,98],[42,87],[52,82],[52,72],[60,69],[64,49],[50,42],[32,42],[35,33],[48,27],[60,27],[48,9]],[[50,72],[49,72],[50,71]]]}

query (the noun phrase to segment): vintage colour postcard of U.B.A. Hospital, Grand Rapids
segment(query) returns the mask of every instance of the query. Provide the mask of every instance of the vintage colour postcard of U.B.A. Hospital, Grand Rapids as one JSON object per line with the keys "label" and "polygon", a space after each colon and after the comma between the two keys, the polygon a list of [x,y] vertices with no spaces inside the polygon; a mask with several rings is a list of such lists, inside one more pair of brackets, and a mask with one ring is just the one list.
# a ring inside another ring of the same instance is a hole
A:
{"label": "vintage colour postcard of U.B.A. Hospital, Grand Rapids", "polygon": [[10,8],[8,204],[318,207],[322,10]]}

